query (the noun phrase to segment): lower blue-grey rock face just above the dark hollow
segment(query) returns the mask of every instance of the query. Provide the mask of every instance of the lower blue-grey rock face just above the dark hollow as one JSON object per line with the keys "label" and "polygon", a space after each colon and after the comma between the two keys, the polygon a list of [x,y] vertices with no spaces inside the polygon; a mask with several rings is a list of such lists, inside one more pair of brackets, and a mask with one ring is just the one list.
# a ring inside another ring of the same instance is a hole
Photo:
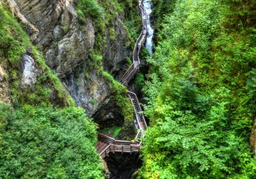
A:
{"label": "lower blue-grey rock face just above the dark hollow", "polygon": [[[75,72],[67,75],[63,79],[63,83],[67,86],[70,95],[76,101],[76,104],[86,110],[86,114],[90,117],[101,109],[106,103],[109,103],[109,93],[111,93],[108,82],[97,74],[97,70],[90,71],[87,75],[88,68],[86,62],[79,66]],[[107,111],[102,111],[103,115],[107,115]]]}

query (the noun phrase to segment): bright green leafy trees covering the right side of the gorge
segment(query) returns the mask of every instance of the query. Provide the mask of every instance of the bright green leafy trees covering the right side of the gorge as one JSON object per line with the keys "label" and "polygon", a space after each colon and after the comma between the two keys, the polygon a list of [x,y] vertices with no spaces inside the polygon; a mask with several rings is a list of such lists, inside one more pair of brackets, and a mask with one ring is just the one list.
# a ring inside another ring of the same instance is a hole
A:
{"label": "bright green leafy trees covering the right side of the gorge", "polygon": [[139,178],[255,178],[256,3],[154,0]]}

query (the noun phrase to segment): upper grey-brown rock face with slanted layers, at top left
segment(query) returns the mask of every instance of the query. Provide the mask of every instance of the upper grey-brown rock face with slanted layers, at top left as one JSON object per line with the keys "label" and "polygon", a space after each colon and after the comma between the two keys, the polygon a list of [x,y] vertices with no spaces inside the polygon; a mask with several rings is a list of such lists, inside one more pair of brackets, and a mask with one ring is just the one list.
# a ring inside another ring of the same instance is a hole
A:
{"label": "upper grey-brown rock face with slanted layers, at top left", "polygon": [[31,40],[45,52],[47,65],[60,77],[70,74],[92,52],[95,31],[87,20],[84,31],[77,22],[74,1],[15,0],[17,8],[38,29],[29,31]]}

